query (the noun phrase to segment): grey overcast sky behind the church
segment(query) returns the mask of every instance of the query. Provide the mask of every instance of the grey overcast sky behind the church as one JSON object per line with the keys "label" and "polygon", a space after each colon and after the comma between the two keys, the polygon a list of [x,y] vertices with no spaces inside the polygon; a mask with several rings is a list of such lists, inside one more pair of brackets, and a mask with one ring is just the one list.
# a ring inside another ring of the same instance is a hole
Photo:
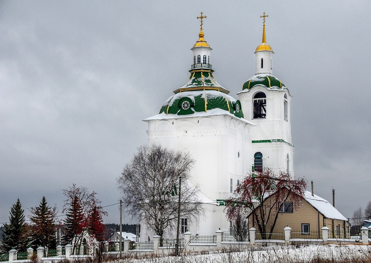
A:
{"label": "grey overcast sky behind the church", "polygon": [[[102,205],[147,142],[147,123],[189,77],[201,11],[217,81],[255,74],[262,39],[293,95],[296,177],[345,217],[371,200],[371,52],[364,1],[0,1],[0,223],[12,204],[62,210],[76,183]],[[119,222],[117,206],[105,222]],[[1,224],[0,224],[1,225]]]}

